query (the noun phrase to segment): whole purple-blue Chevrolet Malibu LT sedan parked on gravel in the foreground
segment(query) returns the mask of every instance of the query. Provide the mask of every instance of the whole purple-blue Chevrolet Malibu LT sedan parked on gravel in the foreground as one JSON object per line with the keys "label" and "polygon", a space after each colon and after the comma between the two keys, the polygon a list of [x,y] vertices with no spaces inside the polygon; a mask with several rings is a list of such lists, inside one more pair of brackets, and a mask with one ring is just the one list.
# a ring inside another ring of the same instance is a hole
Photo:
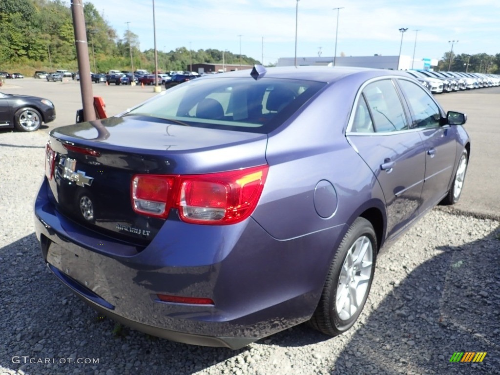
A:
{"label": "whole purple-blue Chevrolet Malibu LT sedan parked on gravel in the foreground", "polygon": [[358,318],[376,257],[461,194],[466,115],[402,72],[206,75],[50,132],[35,206],[53,274],[170,340],[240,348]]}

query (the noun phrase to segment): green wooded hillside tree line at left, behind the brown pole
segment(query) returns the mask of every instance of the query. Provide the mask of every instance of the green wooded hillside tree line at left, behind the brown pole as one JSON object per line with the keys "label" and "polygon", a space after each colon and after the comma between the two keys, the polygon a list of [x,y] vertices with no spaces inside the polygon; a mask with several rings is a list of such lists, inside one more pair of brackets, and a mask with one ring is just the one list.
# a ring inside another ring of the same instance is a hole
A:
{"label": "green wooded hillside tree line at left, behind the brown pole", "polygon": [[[91,2],[83,6],[90,69],[130,70],[130,47],[134,69],[154,70],[154,50],[139,50],[138,35],[116,30]],[[178,47],[158,51],[158,68],[185,70],[190,63],[239,64],[239,54],[217,49],[189,50]],[[241,55],[241,63],[257,60]],[[71,8],[62,0],[0,0],[0,69],[32,74],[32,70],[77,70]]]}

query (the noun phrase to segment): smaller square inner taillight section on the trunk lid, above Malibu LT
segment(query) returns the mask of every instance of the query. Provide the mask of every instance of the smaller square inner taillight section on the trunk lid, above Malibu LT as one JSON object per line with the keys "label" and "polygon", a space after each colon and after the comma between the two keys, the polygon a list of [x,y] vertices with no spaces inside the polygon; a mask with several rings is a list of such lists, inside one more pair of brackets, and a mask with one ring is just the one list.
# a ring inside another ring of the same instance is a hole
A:
{"label": "smaller square inner taillight section on the trunk lid, above Malibu LT", "polygon": [[175,176],[138,174],[132,178],[132,208],[135,212],[166,218]]}

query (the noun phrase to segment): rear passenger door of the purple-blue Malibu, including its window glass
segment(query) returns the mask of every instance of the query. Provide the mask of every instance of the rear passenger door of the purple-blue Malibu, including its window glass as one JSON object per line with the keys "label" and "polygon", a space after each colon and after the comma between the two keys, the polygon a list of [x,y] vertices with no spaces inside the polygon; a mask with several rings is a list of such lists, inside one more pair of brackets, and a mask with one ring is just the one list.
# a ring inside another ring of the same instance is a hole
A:
{"label": "rear passenger door of the purple-blue Malibu, including its window glass", "polygon": [[387,212],[387,236],[418,215],[425,152],[392,79],[372,81],[358,96],[347,137],[375,174]]}

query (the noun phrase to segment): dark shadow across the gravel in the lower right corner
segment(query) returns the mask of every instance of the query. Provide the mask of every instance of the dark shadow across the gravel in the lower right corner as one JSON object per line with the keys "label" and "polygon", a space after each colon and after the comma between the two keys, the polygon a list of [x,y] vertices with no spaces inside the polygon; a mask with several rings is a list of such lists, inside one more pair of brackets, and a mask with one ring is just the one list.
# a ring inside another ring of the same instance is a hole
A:
{"label": "dark shadow across the gravel in the lower right corner", "polygon": [[[356,324],[331,374],[500,374],[500,229],[437,249]],[[454,352],[487,354],[455,363]]]}

